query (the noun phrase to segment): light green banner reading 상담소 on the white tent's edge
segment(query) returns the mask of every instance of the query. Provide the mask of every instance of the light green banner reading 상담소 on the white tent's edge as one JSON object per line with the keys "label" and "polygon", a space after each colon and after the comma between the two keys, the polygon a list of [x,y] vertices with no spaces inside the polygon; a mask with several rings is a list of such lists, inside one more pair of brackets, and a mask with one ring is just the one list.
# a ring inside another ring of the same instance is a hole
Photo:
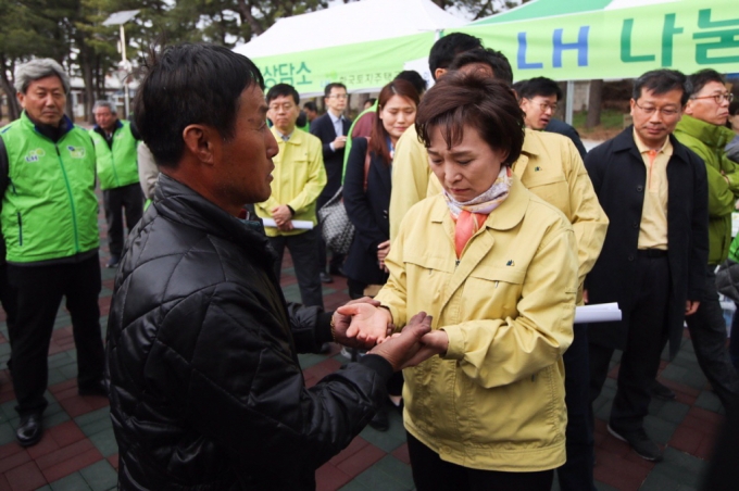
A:
{"label": "light green banner reading \uc0c1\ub2f4\uc18c on the white tent's edge", "polygon": [[408,61],[428,56],[435,33],[343,45],[311,51],[254,58],[267,89],[290,84],[303,96],[323,95],[326,84],[340,81],[366,91],[391,81]]}

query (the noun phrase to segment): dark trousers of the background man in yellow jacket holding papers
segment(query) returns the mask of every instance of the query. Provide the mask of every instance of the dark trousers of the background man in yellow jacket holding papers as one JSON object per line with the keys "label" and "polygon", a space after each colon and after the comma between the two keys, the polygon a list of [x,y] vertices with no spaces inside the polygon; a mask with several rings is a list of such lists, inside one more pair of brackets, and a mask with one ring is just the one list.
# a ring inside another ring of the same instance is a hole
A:
{"label": "dark trousers of the background man in yellow jacket holding papers", "polygon": [[275,274],[279,278],[283,269],[285,248],[290,251],[292,265],[296,268],[300,298],[304,305],[317,305],[323,309],[323,289],[318,277],[318,261],[315,255],[318,229],[314,228],[297,236],[270,237],[270,243],[277,253]]}

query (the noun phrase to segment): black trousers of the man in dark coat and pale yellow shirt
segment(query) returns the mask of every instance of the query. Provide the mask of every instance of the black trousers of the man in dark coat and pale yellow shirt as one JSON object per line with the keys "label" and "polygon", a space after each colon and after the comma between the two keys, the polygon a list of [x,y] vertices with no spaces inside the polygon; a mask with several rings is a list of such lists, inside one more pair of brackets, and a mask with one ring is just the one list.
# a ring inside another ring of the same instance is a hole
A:
{"label": "black trousers of the man in dark coat and pale yellow shirt", "polygon": [[[637,255],[637,278],[631,286],[632,305],[628,315],[628,338],[621,357],[616,396],[610,424],[614,429],[642,428],[651,400],[650,385],[660,368],[660,355],[667,343],[669,263],[667,256]],[[598,329],[593,324],[592,329]],[[590,402],[603,389],[613,348],[590,343]]]}

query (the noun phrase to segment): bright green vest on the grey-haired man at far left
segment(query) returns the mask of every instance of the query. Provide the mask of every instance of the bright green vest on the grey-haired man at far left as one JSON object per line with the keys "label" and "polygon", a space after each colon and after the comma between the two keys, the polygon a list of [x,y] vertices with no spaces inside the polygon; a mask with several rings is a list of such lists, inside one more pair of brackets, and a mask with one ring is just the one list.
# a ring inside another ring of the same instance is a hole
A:
{"label": "bright green vest on the grey-haired man at far left", "polygon": [[99,246],[95,149],[86,130],[71,126],[57,143],[25,111],[0,128],[9,167],[0,213],[9,263],[68,257]]}

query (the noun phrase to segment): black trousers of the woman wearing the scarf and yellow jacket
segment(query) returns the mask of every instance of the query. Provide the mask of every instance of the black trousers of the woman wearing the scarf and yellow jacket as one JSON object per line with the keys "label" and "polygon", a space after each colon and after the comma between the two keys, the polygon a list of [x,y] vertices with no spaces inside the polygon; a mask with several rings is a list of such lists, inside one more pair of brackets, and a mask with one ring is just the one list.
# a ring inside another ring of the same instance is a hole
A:
{"label": "black trousers of the woman wearing the scarf and yellow jacket", "polygon": [[442,461],[439,454],[408,436],[413,482],[418,491],[549,491],[554,470],[502,473],[462,467]]}

